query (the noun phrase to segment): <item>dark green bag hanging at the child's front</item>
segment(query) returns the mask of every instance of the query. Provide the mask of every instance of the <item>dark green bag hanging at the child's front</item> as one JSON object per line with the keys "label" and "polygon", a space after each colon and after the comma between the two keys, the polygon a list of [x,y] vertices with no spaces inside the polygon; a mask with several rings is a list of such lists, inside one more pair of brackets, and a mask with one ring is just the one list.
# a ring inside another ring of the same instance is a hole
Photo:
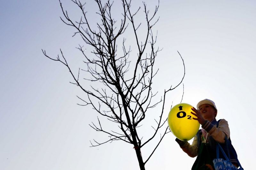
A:
{"label": "dark green bag hanging at the child's front", "polygon": [[210,145],[201,143],[196,161],[191,170],[214,170],[212,156],[210,153]]}

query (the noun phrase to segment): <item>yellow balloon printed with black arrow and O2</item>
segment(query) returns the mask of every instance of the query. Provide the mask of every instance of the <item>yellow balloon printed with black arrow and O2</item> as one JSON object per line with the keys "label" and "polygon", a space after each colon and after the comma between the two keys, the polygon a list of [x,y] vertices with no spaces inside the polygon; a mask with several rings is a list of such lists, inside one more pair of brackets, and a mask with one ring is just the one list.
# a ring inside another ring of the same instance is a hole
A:
{"label": "yellow balloon printed with black arrow and O2", "polygon": [[192,139],[200,126],[199,122],[193,119],[196,116],[191,114],[192,107],[187,103],[180,103],[172,107],[168,115],[168,125],[171,132],[182,141]]}

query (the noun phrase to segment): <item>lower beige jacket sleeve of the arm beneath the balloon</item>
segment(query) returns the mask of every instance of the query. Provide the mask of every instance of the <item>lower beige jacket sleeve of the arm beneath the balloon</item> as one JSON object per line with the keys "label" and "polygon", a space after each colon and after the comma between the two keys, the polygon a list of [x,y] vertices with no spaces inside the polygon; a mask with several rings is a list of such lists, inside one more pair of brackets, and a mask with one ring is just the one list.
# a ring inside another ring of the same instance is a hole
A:
{"label": "lower beige jacket sleeve of the arm beneath the balloon", "polygon": [[194,137],[192,144],[189,144],[188,141],[181,141],[180,139],[176,138],[176,142],[180,145],[180,148],[188,154],[188,156],[194,158],[198,154],[198,147],[197,147],[197,137]]}

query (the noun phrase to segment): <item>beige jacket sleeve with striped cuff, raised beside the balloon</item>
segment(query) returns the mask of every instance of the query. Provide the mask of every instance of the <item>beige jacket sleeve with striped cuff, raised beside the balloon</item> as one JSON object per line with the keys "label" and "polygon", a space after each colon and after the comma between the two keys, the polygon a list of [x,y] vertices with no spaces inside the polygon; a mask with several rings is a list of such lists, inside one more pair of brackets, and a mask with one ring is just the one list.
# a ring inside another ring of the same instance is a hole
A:
{"label": "beige jacket sleeve with striped cuff, raised beside the balloon", "polygon": [[209,133],[209,136],[212,136],[215,141],[222,144],[225,143],[225,136],[227,136],[227,138],[230,136],[228,122],[225,119],[220,120],[218,128],[209,121],[205,121],[202,128],[205,129]]}

